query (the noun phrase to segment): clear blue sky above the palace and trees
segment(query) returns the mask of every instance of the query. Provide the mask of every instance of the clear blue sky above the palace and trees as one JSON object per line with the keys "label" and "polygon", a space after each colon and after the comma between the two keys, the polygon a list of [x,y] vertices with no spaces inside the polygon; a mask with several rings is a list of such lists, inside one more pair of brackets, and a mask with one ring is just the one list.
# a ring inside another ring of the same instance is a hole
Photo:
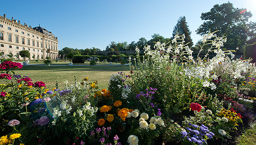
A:
{"label": "clear blue sky above the palace and trees", "polygon": [[[229,0],[235,8],[247,8],[256,22],[256,0]],[[27,0],[1,1],[0,14],[21,24],[46,27],[64,47],[105,50],[111,41],[130,44],[154,33],[172,36],[180,16],[185,16],[195,44],[201,39],[195,30],[203,24],[200,16],[215,4],[227,0]]]}

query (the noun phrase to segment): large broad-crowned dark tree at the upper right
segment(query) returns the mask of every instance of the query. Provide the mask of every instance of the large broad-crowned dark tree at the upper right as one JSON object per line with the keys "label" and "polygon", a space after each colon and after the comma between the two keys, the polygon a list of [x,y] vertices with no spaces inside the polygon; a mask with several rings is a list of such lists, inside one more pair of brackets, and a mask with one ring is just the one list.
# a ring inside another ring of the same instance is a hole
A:
{"label": "large broad-crowned dark tree at the upper right", "polygon": [[228,2],[222,5],[214,5],[210,12],[202,13],[201,19],[205,20],[196,30],[197,34],[204,35],[211,30],[217,32],[217,36],[227,36],[226,49],[241,48],[247,40],[246,23],[252,16],[246,9],[234,8],[233,4]]}

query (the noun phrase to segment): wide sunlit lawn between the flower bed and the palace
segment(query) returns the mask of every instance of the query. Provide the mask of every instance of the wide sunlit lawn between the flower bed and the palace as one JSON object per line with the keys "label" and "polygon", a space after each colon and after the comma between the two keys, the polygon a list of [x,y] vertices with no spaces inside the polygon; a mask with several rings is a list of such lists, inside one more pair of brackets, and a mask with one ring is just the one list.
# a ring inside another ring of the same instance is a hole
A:
{"label": "wide sunlit lawn between the flower bed and the palace", "polygon": [[[29,62],[30,63],[30,62]],[[106,66],[45,66],[45,65],[29,65],[23,66],[15,74],[29,76],[32,82],[45,82],[47,88],[54,88],[58,81],[60,89],[64,88],[64,81],[67,80],[69,85],[85,77],[89,77],[89,81],[98,81],[100,89],[107,88],[112,73],[126,71],[128,74],[129,65],[106,65]],[[4,82],[1,82],[4,83]]]}

